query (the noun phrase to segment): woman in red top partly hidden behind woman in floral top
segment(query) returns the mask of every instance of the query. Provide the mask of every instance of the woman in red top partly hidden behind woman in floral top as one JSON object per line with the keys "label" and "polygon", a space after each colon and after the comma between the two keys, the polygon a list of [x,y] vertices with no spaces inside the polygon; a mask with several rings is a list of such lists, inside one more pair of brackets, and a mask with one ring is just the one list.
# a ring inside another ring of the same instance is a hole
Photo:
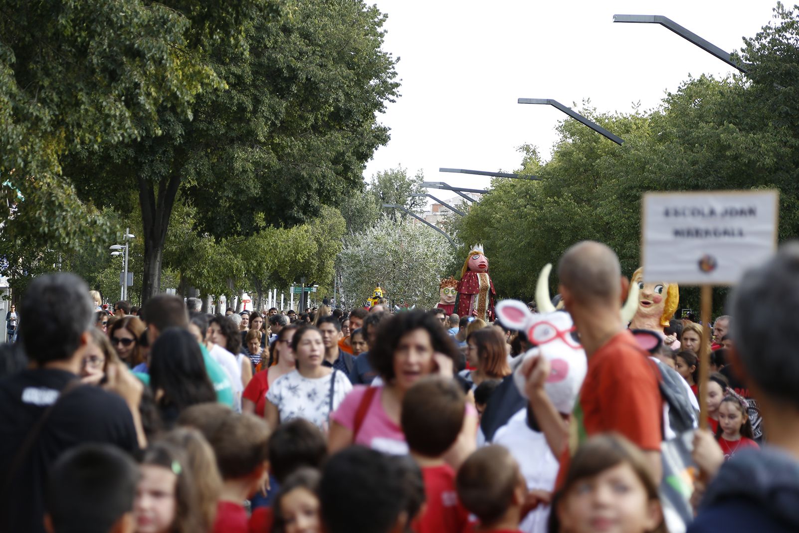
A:
{"label": "woman in red top partly hidden behind woman in floral top", "polygon": [[[266,407],[266,392],[275,383],[277,378],[285,376],[296,369],[294,352],[292,351],[292,338],[298,327],[285,326],[277,334],[277,340],[269,348],[269,356],[261,357],[260,364],[256,367],[256,375],[244,388],[241,395],[241,412],[253,413],[264,416]],[[272,365],[269,362],[272,361]]]}

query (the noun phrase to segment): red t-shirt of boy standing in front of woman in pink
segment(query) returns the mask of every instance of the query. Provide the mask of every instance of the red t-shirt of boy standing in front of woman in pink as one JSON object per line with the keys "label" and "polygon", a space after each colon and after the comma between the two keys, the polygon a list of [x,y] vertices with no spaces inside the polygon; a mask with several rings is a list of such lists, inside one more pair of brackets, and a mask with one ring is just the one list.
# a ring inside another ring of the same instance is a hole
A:
{"label": "red t-shirt of boy standing in front of woman in pink", "polygon": [[448,464],[423,467],[422,477],[427,508],[411,529],[415,533],[463,533],[469,513],[458,501],[455,471]]}

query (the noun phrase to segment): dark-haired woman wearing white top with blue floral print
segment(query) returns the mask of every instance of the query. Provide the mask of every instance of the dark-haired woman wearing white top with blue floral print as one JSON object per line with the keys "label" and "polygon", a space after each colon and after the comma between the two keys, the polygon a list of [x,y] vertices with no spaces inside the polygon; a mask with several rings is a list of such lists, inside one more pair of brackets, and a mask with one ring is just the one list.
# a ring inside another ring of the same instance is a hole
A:
{"label": "dark-haired woman wearing white top with blue floral print", "polygon": [[296,370],[280,376],[266,393],[264,417],[272,428],[280,422],[304,418],[323,431],[330,413],[338,408],[352,384],[344,372],[322,366],[322,333],[314,326],[300,328],[292,338]]}

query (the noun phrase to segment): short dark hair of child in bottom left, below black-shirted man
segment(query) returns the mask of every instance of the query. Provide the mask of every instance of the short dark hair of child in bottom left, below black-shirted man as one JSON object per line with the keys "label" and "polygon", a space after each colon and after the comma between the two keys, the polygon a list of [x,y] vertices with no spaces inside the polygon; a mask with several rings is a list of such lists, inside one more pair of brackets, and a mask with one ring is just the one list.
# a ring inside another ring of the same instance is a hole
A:
{"label": "short dark hair of child in bottom left, below black-shirted man", "polygon": [[108,533],[133,511],[138,468],[110,444],[78,444],[48,471],[45,507],[55,531]]}

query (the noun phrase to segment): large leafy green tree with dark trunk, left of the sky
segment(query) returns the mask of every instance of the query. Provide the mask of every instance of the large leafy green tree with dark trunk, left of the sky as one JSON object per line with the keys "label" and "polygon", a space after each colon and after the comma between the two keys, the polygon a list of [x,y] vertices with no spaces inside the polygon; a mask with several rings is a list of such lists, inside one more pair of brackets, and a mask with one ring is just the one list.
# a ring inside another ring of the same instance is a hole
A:
{"label": "large leafy green tree with dark trunk, left of the sky", "polygon": [[[193,3],[175,2],[187,17]],[[216,238],[295,225],[336,204],[361,180],[388,129],[376,112],[396,96],[395,60],[380,50],[384,15],[360,0],[302,0],[284,17],[248,10],[239,40],[189,34],[208,51],[225,90],[197,97],[193,120],[166,107],[160,136],[81,153],[81,194],[130,209],[137,190],[144,241],[143,299],[159,288],[169,218],[179,192],[197,208],[197,230]],[[208,22],[207,22],[208,23]],[[233,42],[231,42],[233,41]]]}

